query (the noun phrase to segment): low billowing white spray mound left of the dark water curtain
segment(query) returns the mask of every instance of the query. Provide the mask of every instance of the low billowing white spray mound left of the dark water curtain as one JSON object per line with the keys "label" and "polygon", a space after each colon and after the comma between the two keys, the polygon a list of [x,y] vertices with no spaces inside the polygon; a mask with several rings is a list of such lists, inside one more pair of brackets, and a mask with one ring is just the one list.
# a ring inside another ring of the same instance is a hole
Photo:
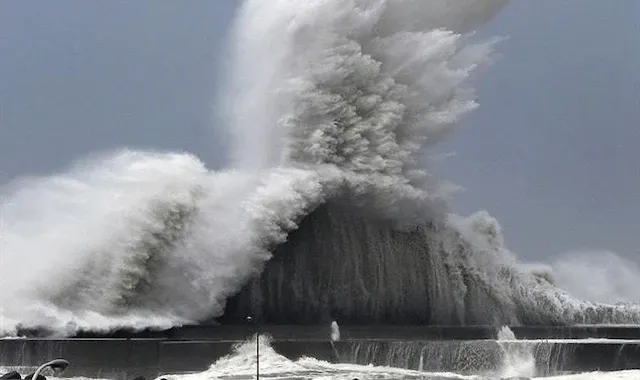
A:
{"label": "low billowing white spray mound left of the dark water curtain", "polygon": [[193,156],[131,151],[3,190],[9,333],[17,324],[68,333],[220,315],[323,200],[310,171],[214,173]]}

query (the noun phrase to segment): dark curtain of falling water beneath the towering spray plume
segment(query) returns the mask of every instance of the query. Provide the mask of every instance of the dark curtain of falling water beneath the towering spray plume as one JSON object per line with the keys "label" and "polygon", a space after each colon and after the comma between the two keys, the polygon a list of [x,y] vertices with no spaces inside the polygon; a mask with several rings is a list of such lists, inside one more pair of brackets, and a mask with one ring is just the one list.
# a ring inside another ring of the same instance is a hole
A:
{"label": "dark curtain of falling water beneath the towering spray plume", "polygon": [[444,223],[397,229],[360,208],[330,202],[274,250],[260,277],[229,300],[220,320],[254,315],[286,324],[519,323],[523,316],[466,265],[470,254]]}

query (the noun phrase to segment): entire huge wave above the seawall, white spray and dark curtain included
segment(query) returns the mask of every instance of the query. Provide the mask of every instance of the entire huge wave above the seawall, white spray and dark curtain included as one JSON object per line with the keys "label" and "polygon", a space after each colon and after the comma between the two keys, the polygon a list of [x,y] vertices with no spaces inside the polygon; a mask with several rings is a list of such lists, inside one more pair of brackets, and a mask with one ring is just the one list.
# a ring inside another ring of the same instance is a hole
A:
{"label": "entire huge wave above the seawall, white spray and dark curtain included", "polygon": [[123,150],[1,190],[5,334],[265,321],[640,322],[520,267],[486,212],[447,213],[429,147],[502,0],[248,0],[220,109],[228,170]]}

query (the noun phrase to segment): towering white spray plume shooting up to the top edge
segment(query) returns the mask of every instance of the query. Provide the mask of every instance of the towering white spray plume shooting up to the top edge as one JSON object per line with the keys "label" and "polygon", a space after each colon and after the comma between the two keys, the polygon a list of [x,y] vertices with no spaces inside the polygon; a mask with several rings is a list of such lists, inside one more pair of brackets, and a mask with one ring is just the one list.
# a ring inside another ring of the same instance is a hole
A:
{"label": "towering white spray plume shooting up to the top edge", "polygon": [[467,31],[504,4],[246,1],[224,87],[235,165],[334,167],[370,206],[424,216],[449,187],[420,152],[477,107],[464,83],[493,46],[438,28]]}

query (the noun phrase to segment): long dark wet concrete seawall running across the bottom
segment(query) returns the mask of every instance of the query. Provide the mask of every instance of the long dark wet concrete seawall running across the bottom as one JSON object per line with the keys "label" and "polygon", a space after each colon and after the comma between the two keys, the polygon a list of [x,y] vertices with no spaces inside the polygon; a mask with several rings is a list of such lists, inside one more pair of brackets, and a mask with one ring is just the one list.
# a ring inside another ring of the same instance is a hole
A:
{"label": "long dark wet concrete seawall running across the bottom", "polygon": [[[495,328],[484,326],[345,326],[335,350],[326,326],[260,329],[273,337],[272,347],[277,353],[292,360],[310,356],[330,362],[482,374],[499,369],[510,353],[528,352],[535,357],[538,376],[640,368],[640,339],[576,339],[638,336],[640,328],[631,327],[514,327],[519,339],[555,340],[499,342],[495,341]],[[37,366],[48,359],[64,357],[73,363],[65,376],[153,379],[162,374],[204,371],[232,353],[233,346],[248,338],[251,330],[246,326],[199,326],[163,334],[153,338],[0,340],[0,365]]]}

